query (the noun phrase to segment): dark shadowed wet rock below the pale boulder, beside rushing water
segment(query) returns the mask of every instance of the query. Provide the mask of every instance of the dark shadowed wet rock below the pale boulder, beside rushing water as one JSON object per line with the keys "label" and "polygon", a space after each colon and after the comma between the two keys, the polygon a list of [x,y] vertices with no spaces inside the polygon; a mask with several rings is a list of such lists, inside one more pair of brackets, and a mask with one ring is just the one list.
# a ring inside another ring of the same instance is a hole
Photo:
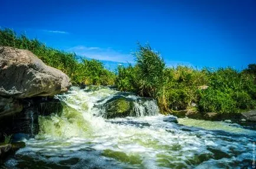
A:
{"label": "dark shadowed wet rock below the pale boulder, beside rushing water", "polygon": [[20,113],[0,118],[0,140],[4,138],[4,133],[35,136],[39,131],[38,116],[60,114],[63,111],[63,105],[58,99],[32,97],[22,99],[20,102],[24,107]]}

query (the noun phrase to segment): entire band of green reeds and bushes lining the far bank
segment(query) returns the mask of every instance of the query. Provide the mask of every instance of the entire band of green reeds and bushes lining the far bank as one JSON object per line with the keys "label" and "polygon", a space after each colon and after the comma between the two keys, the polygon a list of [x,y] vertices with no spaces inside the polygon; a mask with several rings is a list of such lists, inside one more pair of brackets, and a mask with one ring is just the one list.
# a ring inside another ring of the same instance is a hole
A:
{"label": "entire band of green reeds and bushes lining the far bank", "polygon": [[27,49],[48,66],[67,74],[73,85],[115,85],[118,90],[153,97],[163,113],[195,107],[201,112],[238,113],[256,106],[256,65],[238,71],[231,67],[194,69],[166,67],[160,53],[138,45],[134,66],[118,66],[114,74],[99,60],[47,47],[37,39],[0,29],[0,46]]}

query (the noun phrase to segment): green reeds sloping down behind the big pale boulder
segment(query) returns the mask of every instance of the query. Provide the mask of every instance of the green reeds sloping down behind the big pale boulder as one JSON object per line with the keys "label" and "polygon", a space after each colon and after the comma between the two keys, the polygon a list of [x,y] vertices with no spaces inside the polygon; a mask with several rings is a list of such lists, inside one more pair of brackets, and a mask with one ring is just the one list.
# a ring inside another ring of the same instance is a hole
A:
{"label": "green reeds sloping down behind the big pale boulder", "polygon": [[67,74],[73,85],[114,85],[114,73],[105,69],[98,60],[80,59],[75,53],[49,48],[37,39],[28,39],[24,34],[17,36],[11,29],[0,29],[0,46],[30,50],[46,65]]}

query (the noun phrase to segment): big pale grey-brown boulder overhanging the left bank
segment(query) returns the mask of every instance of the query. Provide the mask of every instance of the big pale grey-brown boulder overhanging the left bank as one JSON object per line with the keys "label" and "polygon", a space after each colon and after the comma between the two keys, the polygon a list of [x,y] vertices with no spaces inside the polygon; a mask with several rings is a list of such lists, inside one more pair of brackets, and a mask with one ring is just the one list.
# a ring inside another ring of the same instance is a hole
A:
{"label": "big pale grey-brown boulder overhanging the left bank", "polygon": [[0,47],[0,96],[53,96],[71,86],[67,75],[28,50]]}

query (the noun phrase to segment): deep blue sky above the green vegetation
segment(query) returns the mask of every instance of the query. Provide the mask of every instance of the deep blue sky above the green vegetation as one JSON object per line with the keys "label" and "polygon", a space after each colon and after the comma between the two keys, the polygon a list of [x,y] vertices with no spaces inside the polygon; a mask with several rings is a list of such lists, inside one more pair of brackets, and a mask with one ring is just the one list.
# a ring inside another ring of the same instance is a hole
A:
{"label": "deep blue sky above the green vegetation", "polygon": [[149,42],[167,66],[256,63],[255,0],[1,0],[0,15],[1,28],[110,65],[134,62],[137,42]]}

